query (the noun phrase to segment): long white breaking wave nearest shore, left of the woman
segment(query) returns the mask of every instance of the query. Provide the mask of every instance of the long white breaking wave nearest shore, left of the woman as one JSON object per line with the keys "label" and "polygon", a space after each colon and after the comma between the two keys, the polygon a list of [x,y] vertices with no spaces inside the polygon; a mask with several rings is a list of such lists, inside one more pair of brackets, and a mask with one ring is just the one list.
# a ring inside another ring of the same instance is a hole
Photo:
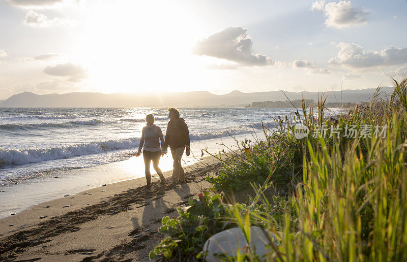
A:
{"label": "long white breaking wave nearest shore, left of the woman", "polygon": [[49,160],[66,159],[75,156],[100,154],[114,150],[130,149],[138,146],[139,138],[108,140],[74,144],[55,148],[40,149],[2,149],[0,148],[0,167],[18,166]]}

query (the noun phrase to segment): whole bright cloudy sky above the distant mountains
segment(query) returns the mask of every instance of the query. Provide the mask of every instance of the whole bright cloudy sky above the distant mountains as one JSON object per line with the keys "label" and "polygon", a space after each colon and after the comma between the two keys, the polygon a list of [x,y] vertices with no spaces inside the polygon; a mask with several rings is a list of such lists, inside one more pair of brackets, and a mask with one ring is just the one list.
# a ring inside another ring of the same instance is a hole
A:
{"label": "whole bright cloudy sky above the distant mountains", "polygon": [[407,3],[0,0],[0,100],[325,91],[407,76]]}

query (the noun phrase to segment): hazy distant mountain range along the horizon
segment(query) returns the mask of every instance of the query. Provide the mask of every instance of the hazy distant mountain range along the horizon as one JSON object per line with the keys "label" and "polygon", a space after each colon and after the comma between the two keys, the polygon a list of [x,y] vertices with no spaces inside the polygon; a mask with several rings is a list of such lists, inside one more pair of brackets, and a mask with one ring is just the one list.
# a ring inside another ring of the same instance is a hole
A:
{"label": "hazy distant mountain range along the horizon", "polygon": [[[382,95],[390,95],[392,87],[384,87]],[[374,88],[327,92],[327,102],[368,101]],[[321,92],[286,92],[288,99],[318,101]],[[282,91],[212,94],[208,91],[162,93],[85,93],[35,94],[23,92],[1,101],[0,107],[244,107],[253,102],[285,101]]]}

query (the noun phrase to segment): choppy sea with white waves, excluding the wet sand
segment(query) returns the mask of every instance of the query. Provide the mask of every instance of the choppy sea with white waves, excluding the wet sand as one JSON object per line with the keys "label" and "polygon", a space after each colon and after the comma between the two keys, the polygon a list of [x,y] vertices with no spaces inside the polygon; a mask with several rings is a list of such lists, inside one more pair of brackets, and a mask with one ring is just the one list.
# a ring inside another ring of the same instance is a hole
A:
{"label": "choppy sea with white waves, excluding the wet sand", "polygon": [[[191,147],[228,136],[262,133],[294,108],[181,108]],[[147,114],[165,135],[166,108],[0,108],[0,189],[134,156]]]}

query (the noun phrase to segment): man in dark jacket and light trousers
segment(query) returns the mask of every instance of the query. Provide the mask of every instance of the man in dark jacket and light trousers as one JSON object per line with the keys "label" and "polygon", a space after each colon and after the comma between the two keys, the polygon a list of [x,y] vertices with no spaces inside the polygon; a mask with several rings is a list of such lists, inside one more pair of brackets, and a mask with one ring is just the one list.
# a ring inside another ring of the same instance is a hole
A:
{"label": "man in dark jacket and light trousers", "polygon": [[176,108],[168,108],[168,125],[164,140],[164,150],[167,153],[167,147],[171,149],[172,159],[174,160],[172,171],[172,184],[177,180],[182,184],[185,180],[184,169],[181,166],[182,155],[189,156],[189,130],[184,118],[180,118],[180,111]]}

